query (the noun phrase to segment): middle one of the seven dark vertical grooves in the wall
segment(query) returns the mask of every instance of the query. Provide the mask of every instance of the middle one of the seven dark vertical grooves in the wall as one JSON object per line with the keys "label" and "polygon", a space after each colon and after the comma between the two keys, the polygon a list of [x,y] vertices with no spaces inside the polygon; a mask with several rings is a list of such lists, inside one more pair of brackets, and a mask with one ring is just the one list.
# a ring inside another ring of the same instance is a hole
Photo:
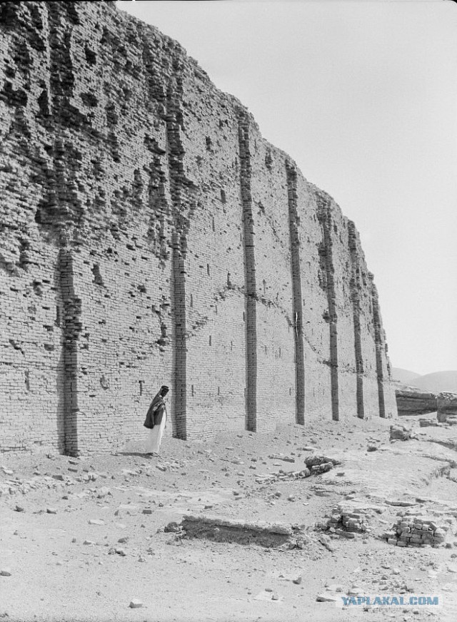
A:
{"label": "middle one of the seven dark vertical grooves in the wall", "polygon": [[291,248],[293,340],[295,344],[296,422],[305,423],[305,360],[303,345],[303,300],[301,297],[300,238],[297,213],[297,172],[286,162],[288,226]]}

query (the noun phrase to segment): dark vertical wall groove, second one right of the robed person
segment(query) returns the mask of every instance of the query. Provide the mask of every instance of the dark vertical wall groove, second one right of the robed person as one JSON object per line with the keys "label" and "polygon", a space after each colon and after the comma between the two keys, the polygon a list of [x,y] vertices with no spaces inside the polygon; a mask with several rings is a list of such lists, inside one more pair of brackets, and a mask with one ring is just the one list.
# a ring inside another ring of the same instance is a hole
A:
{"label": "dark vertical wall groove, second one right of the robed person", "polygon": [[251,195],[249,118],[238,111],[240,188],[243,208],[244,277],[246,292],[246,429],[257,429],[257,310],[256,257]]}

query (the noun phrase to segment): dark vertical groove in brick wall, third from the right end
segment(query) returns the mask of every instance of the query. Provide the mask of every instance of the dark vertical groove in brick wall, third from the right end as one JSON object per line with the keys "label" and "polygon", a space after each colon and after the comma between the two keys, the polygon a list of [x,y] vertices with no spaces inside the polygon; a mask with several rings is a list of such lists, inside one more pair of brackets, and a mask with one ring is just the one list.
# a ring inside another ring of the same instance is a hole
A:
{"label": "dark vertical groove in brick wall, third from the right end", "polygon": [[333,266],[333,221],[331,202],[323,193],[316,193],[317,218],[321,223],[323,245],[319,248],[319,258],[325,267],[326,292],[328,301],[328,328],[330,332],[330,382],[331,382],[331,417],[339,420],[338,392],[338,314],[336,311],[335,268]]}

